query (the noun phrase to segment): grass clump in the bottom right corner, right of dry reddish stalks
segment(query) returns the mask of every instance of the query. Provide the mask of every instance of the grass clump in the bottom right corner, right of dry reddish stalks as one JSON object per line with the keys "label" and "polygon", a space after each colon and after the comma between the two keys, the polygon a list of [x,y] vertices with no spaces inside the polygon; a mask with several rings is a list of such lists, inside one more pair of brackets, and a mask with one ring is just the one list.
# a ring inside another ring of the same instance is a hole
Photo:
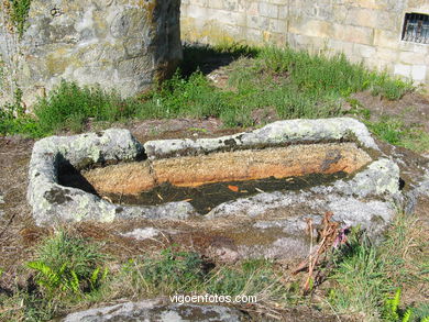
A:
{"label": "grass clump in the bottom right corner, right of dry reddish stalks", "polygon": [[[399,213],[382,243],[375,245],[362,232],[354,232],[345,248],[334,256],[334,281],[328,291],[330,306],[340,314],[353,314],[363,321],[403,321],[392,318],[392,298],[397,290],[428,282],[427,247],[422,229],[414,216]],[[420,251],[419,251],[420,249]],[[417,251],[417,252],[416,252]],[[399,291],[400,292],[400,291]],[[396,313],[409,309],[414,320],[425,318],[425,307],[402,304]]]}

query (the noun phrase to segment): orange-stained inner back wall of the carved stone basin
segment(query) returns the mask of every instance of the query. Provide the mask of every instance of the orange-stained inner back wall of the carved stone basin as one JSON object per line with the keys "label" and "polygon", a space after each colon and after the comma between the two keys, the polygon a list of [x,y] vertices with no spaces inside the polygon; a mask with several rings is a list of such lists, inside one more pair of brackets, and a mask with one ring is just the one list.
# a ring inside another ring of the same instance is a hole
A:
{"label": "orange-stained inner back wall of the carved stone basin", "polygon": [[370,162],[370,155],[354,143],[302,144],[119,164],[82,176],[100,193],[138,195],[164,182],[197,187],[268,177],[351,174]]}

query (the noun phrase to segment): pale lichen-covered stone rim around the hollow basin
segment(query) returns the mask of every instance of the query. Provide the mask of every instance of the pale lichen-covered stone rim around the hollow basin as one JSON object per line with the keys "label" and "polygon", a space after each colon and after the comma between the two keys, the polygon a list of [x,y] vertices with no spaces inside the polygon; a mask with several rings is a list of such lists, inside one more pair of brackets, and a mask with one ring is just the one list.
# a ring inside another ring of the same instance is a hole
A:
{"label": "pale lichen-covered stone rim around the hollow basin", "polygon": [[[38,225],[86,220],[111,222],[114,219],[129,218],[189,219],[198,216],[198,213],[186,201],[156,207],[122,207],[80,189],[63,187],[58,184],[58,167],[65,163],[81,168],[94,164],[135,160],[143,154],[151,159],[178,157],[189,153],[208,154],[230,148],[231,145],[239,148],[254,148],[282,143],[343,142],[352,138],[362,148],[380,152],[365,125],[350,118],[278,121],[252,132],[229,136],[196,141],[187,138],[148,141],[143,145],[128,130],[118,129],[68,137],[51,136],[34,145],[29,170],[28,199],[33,207],[33,215]],[[380,158],[350,180],[336,181],[331,187],[315,187],[311,191],[328,189],[330,193],[360,197],[395,195],[398,193],[398,176],[396,164]],[[371,177],[372,187],[367,185],[367,177]],[[273,202],[267,207],[282,207],[280,195],[274,193],[276,198],[270,197]],[[257,202],[258,198],[254,196],[227,203],[229,209],[234,209],[237,204],[243,202],[249,208]],[[220,204],[215,208],[206,219],[233,214],[227,211],[226,207]],[[252,211],[249,214],[254,215]]]}

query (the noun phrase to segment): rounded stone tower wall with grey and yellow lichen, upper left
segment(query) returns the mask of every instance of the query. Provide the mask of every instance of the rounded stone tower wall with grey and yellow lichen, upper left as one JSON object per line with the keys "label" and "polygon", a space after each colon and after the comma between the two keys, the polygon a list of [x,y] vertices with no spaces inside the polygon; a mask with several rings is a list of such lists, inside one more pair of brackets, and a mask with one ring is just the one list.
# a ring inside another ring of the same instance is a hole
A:
{"label": "rounded stone tower wall with grey and yellow lichen, upper left", "polygon": [[32,0],[22,38],[2,12],[7,81],[18,84],[26,102],[62,78],[133,96],[182,59],[179,5],[179,0]]}

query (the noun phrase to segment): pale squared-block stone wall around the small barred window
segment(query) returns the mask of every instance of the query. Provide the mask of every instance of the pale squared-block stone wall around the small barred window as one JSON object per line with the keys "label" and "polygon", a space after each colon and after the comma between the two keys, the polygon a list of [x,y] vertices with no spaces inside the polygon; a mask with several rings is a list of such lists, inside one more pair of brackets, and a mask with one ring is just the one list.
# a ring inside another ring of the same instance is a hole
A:
{"label": "pale squared-block stone wall around the small barred window", "polygon": [[429,84],[429,44],[402,41],[405,13],[428,0],[183,0],[183,38],[288,44]]}

